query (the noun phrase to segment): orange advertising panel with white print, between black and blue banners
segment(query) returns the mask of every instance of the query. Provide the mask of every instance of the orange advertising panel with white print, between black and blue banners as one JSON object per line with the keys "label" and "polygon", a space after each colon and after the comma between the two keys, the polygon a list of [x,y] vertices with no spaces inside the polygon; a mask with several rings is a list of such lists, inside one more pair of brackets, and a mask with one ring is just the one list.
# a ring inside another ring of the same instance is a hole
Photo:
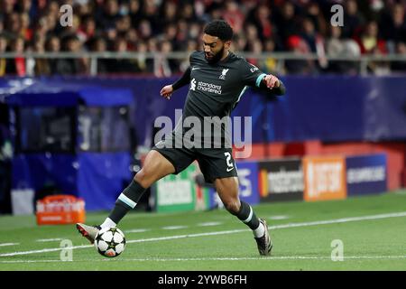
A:
{"label": "orange advertising panel with white print, between black and blue banners", "polygon": [[303,158],[304,200],[346,199],[346,159],[344,156]]}

